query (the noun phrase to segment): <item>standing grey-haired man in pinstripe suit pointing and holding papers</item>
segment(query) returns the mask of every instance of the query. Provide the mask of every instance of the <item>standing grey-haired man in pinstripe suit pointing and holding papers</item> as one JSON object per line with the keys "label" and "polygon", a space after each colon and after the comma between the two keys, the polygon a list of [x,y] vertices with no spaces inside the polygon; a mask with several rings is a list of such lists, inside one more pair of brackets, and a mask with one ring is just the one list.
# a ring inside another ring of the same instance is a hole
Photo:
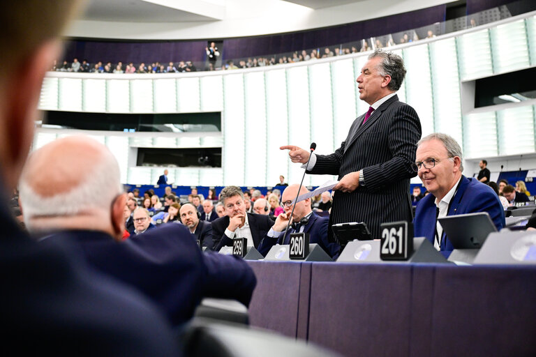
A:
{"label": "standing grey-haired man in pinstripe suit pointing and holding papers", "polygon": [[[380,223],[412,220],[410,178],[421,123],[415,109],[400,102],[396,91],[405,76],[400,56],[375,50],[357,77],[359,98],[371,107],[357,117],[341,147],[331,155],[315,155],[309,174],[338,175],[330,227],[342,222],[366,222],[374,238]],[[306,163],[308,151],[288,149],[292,162]],[[332,234],[329,229],[329,234]]]}

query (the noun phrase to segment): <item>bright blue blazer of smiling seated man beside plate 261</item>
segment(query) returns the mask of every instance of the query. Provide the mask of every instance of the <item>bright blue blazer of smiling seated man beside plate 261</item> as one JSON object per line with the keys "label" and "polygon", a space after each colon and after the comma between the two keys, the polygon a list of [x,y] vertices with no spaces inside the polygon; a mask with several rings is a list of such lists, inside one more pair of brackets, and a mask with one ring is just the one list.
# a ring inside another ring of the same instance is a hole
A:
{"label": "bright blue blazer of smiling seated man beside plate 261", "polygon": [[[435,235],[435,197],[427,195],[419,201],[415,210],[413,227],[416,237],[426,237],[432,244]],[[462,215],[466,213],[487,212],[497,227],[497,230],[505,227],[505,211],[502,209],[499,197],[488,185],[477,181],[475,178],[461,176],[461,183],[456,195],[452,197],[447,215]],[[454,250],[452,243],[442,234],[440,250],[448,257]]]}

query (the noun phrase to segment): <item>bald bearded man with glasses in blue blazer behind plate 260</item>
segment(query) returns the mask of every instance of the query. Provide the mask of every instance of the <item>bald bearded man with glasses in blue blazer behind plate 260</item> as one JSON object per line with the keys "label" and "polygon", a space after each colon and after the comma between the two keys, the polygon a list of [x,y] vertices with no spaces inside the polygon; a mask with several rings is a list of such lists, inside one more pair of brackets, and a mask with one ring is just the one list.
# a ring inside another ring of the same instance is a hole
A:
{"label": "bald bearded man with glasses in blue blazer behind plate 260", "polygon": [[[276,218],[274,226],[268,231],[267,236],[262,240],[259,246],[259,252],[262,255],[267,255],[270,248],[276,243],[289,244],[290,234],[295,232],[305,232],[309,234],[309,243],[318,243],[329,257],[336,257],[338,255],[339,245],[337,243],[330,243],[327,241],[327,226],[329,218],[320,217],[312,211],[311,199],[304,199],[296,204],[294,208],[294,214],[290,218],[292,213],[292,201],[296,198],[299,185],[290,185],[283,191],[281,196],[281,202],[285,213],[281,213]],[[309,192],[307,188],[301,186],[299,191],[300,195],[304,195]],[[290,227],[285,242],[281,243],[285,230],[287,229],[288,220],[291,220],[292,226]]]}

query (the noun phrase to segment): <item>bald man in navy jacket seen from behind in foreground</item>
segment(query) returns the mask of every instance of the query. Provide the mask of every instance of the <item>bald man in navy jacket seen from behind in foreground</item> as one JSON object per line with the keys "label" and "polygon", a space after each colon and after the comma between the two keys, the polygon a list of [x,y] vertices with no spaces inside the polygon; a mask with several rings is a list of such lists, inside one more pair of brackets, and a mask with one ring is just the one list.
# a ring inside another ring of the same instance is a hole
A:
{"label": "bald man in navy jacket seen from behind in foreground", "polygon": [[[184,225],[162,225],[120,241],[126,196],[119,177],[117,160],[93,139],[67,137],[43,146],[29,157],[20,184],[27,224],[45,236],[41,244],[76,242],[91,267],[142,291],[175,326],[192,317],[204,296],[248,305],[255,287],[251,268],[241,259],[202,254]],[[98,200],[91,199],[96,187]],[[149,221],[144,208],[134,212],[135,219],[140,215]]]}

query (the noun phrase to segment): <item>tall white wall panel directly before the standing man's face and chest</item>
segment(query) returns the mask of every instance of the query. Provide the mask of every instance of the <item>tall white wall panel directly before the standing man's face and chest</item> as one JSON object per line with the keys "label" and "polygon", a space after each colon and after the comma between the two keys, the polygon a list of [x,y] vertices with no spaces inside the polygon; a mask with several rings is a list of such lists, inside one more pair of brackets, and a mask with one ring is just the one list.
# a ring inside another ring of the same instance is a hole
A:
{"label": "tall white wall panel directly before the standing man's face and chest", "polygon": [[[348,136],[348,129],[357,117],[355,112],[355,79],[353,60],[332,62],[333,149],[338,149]],[[359,92],[358,92],[359,94]],[[359,99],[357,99],[359,100]],[[327,148],[326,152],[327,152]]]}

